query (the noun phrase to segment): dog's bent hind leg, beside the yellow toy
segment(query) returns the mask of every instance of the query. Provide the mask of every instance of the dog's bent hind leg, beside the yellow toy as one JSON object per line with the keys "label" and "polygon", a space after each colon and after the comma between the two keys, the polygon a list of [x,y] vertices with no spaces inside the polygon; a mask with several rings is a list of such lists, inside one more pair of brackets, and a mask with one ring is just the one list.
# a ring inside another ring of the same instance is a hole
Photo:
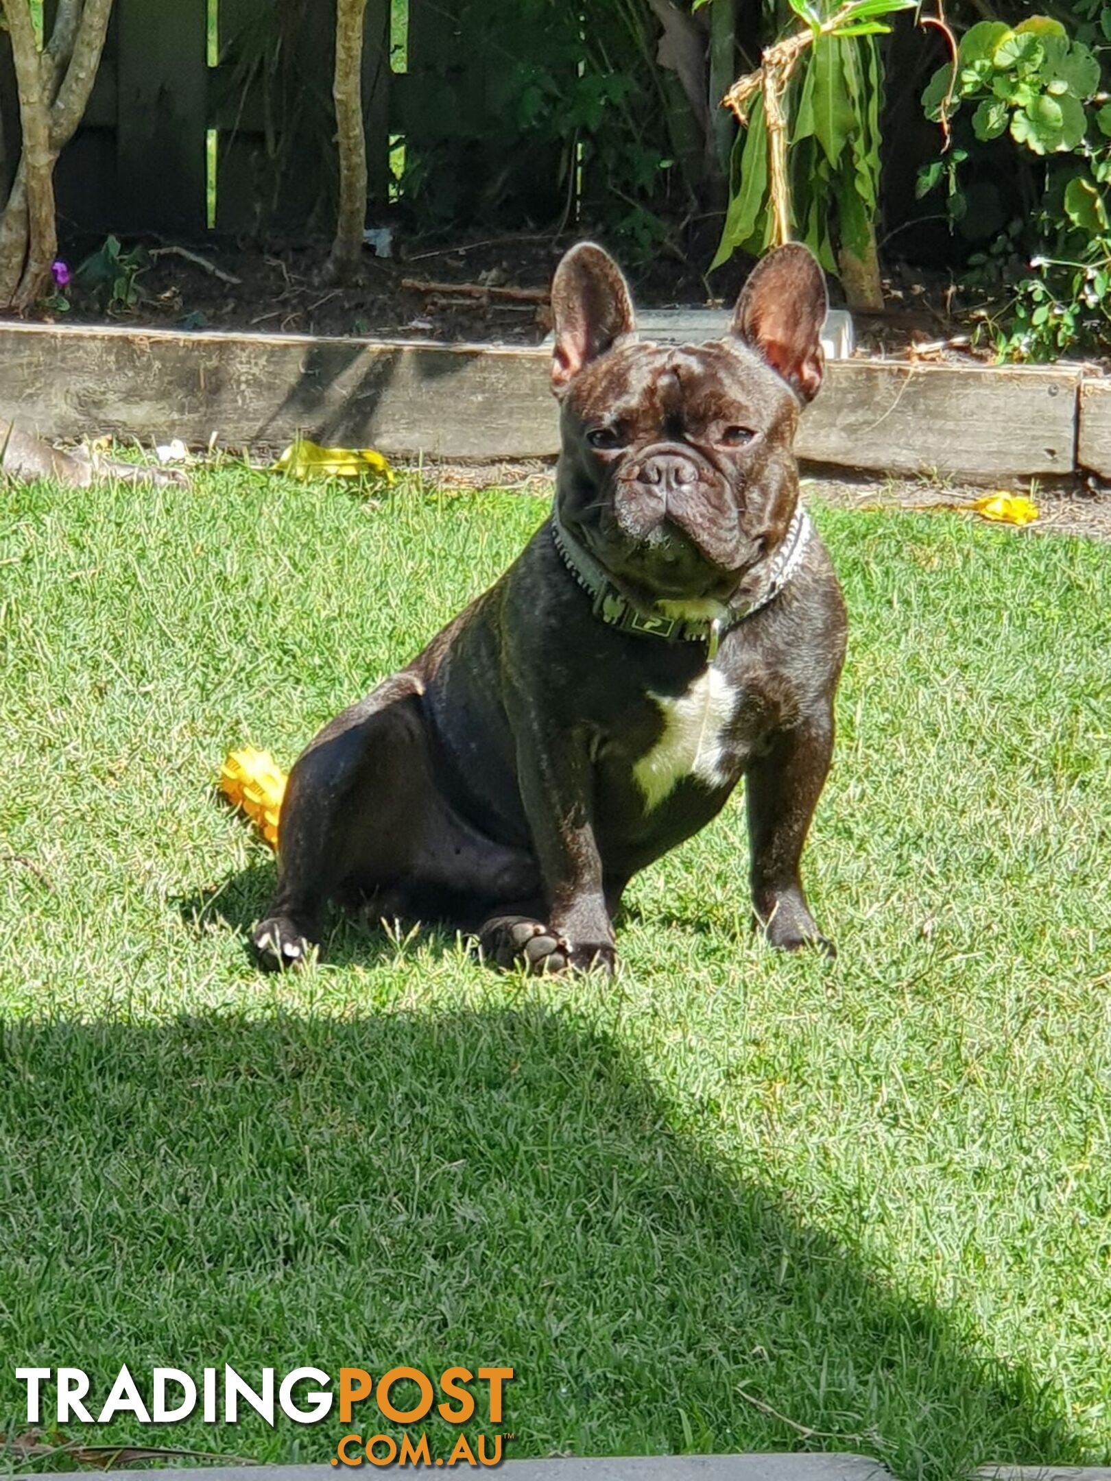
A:
{"label": "dog's bent hind leg, beside the yellow toy", "polygon": [[253,933],[264,969],[301,961],[324,905],[347,886],[406,872],[430,801],[419,681],[396,674],[327,724],[290,772],[278,823],[278,886]]}

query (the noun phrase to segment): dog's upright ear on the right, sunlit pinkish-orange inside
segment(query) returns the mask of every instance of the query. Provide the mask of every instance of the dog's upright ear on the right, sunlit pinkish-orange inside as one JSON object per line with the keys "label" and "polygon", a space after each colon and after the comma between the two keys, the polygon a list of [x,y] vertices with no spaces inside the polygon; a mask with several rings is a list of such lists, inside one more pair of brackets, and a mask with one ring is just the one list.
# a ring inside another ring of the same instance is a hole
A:
{"label": "dog's upright ear on the right, sunlit pinkish-orange inside", "polygon": [[800,241],[790,241],[748,274],[732,327],[804,401],[812,401],[825,366],[819,336],[827,308],[818,259]]}

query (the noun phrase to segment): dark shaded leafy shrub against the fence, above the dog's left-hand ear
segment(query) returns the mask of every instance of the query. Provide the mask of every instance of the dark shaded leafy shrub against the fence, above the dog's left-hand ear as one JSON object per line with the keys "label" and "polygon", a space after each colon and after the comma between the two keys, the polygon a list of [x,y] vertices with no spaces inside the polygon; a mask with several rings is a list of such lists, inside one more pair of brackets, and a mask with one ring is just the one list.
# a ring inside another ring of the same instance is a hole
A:
{"label": "dark shaded leafy shrub against the fence, above the dog's left-hand ear", "polygon": [[646,0],[447,10],[450,27],[410,41],[410,65],[438,98],[406,136],[401,197],[418,228],[579,221],[627,261],[650,259],[695,209],[684,161],[702,156],[683,135],[687,107],[656,59]]}

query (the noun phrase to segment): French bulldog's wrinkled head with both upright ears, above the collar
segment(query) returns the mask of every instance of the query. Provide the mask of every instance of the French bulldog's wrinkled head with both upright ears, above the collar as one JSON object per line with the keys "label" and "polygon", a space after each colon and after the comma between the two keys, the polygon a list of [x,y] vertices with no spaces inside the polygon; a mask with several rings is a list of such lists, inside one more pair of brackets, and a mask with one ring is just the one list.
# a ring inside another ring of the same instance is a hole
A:
{"label": "French bulldog's wrinkled head with both upright ears, above the collar", "polygon": [[616,264],[582,243],[553,283],[564,526],[634,601],[729,603],[758,585],[798,498],[800,401],[822,379],[825,278],[781,247],[754,270],[729,339],[633,338]]}

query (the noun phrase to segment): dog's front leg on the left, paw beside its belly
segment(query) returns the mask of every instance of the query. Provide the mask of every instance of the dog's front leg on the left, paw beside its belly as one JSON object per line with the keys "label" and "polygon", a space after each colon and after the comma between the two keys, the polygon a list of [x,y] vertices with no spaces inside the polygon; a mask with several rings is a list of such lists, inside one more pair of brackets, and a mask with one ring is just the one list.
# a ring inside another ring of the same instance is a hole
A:
{"label": "dog's front leg on the left, paw beside its belly", "polygon": [[480,940],[502,966],[613,972],[613,923],[594,837],[594,776],[585,736],[517,729],[517,778],[541,866],[547,920],[492,917]]}

